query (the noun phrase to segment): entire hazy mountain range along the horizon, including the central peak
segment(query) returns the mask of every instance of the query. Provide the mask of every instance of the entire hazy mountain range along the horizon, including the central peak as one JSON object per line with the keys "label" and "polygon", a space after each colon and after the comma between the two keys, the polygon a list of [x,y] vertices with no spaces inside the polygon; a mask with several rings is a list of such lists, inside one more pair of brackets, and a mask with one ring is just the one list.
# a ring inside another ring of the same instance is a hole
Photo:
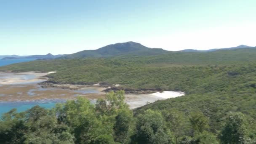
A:
{"label": "entire hazy mountain range along the horizon, including the central peak", "polygon": [[7,55],[0,56],[0,59],[79,59],[79,58],[107,58],[114,56],[133,55],[133,56],[154,56],[164,53],[171,52],[213,52],[219,50],[234,50],[241,48],[256,48],[248,45],[238,45],[237,47],[231,48],[213,48],[208,50],[196,50],[196,49],[184,49],[181,51],[167,51],[163,48],[149,48],[141,43],[133,41],[125,43],[115,43],[106,45],[96,50],[84,50],[72,54],[60,54],[52,55],[48,53],[46,55],[31,55],[31,56],[18,56],[18,55]]}

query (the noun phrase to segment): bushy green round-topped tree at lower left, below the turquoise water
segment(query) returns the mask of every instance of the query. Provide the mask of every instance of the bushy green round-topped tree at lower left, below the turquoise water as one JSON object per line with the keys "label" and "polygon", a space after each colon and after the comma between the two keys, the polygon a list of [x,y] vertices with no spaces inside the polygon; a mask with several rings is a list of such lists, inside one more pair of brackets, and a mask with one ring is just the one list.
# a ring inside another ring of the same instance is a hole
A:
{"label": "bushy green round-topped tree at lower left, below the turquoise water", "polygon": [[35,106],[26,112],[28,131],[24,134],[25,144],[73,144],[74,137],[66,125],[58,124],[54,113]]}

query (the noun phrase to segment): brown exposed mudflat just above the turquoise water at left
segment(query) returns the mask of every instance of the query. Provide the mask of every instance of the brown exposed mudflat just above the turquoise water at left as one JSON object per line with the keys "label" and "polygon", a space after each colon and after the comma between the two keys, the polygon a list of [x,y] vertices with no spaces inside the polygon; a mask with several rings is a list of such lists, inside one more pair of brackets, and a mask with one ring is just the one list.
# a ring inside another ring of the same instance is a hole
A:
{"label": "brown exposed mudflat just above the turquoise water at left", "polygon": [[40,85],[3,85],[0,86],[0,101],[33,101],[40,99],[75,99],[85,96],[98,99],[105,95],[94,88],[71,91],[61,88],[41,88]]}

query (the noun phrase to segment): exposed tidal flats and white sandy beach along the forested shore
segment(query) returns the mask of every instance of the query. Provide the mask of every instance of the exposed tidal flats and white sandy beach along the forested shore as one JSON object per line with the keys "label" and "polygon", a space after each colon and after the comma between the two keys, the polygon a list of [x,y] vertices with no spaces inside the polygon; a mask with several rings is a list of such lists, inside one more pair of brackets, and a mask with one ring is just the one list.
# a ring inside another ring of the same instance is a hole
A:
{"label": "exposed tidal flats and white sandy beach along the forested shore", "polygon": [[161,89],[123,88],[119,84],[88,83],[88,85],[72,85],[51,83],[47,77],[54,72],[0,72],[0,103],[3,102],[33,102],[33,101],[67,101],[82,96],[90,101],[106,98],[110,91],[125,91],[125,103],[130,109],[146,104],[184,96],[183,92],[162,91]]}

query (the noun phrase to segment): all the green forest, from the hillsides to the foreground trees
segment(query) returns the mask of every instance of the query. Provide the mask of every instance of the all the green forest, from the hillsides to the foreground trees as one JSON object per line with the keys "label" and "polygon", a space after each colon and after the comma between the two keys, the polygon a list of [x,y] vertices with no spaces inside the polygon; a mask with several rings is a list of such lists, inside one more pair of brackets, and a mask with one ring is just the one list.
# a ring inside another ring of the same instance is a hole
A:
{"label": "all the green forest, from the hillsides to the foreground trees", "polygon": [[185,96],[130,110],[124,91],[95,105],[84,98],[15,109],[0,121],[6,144],[256,144],[256,49],[157,56],[37,60],[0,71],[57,71],[49,83],[120,84],[129,91],[184,91]]}

